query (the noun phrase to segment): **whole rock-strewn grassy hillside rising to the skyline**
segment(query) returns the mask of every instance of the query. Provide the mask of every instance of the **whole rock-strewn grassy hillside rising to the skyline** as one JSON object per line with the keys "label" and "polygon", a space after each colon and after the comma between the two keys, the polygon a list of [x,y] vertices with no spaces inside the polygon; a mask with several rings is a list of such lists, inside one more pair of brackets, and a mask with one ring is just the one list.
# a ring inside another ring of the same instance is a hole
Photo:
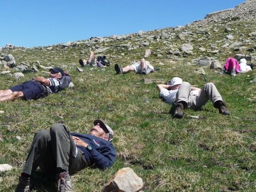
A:
{"label": "whole rock-strewn grassy hillside rising to the skyline", "polygon": [[[38,100],[0,103],[0,164],[13,166],[0,170],[0,191],[14,191],[37,130],[61,122],[87,133],[96,118],[113,128],[117,160],[104,171],[86,168],[72,176],[74,191],[102,191],[123,167],[143,179],[142,191],[254,191],[255,69],[236,77],[218,72],[227,57],[255,64],[255,7],[256,1],[248,0],[186,26],[0,48],[0,89],[47,76],[57,66],[69,71],[74,83]],[[81,68],[78,59],[90,51],[106,55],[111,66]],[[115,75],[114,63],[123,67],[142,57],[160,70]],[[156,83],[174,76],[200,88],[214,82],[230,116],[207,102],[202,111],[186,109],[183,119],[172,118]],[[35,184],[35,191],[54,191],[44,175],[38,174]]]}

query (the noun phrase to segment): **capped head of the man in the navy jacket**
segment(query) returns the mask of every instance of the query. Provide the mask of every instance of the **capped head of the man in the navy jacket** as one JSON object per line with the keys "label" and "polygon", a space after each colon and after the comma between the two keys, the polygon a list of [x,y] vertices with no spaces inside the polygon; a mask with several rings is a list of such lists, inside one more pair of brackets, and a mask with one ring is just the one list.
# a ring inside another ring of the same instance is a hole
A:
{"label": "capped head of the man in the navy jacket", "polygon": [[114,132],[111,129],[111,127],[107,124],[105,124],[100,119],[96,119],[93,122],[94,126],[90,130],[90,135],[100,137],[102,139],[105,139],[107,141],[112,141],[114,137]]}

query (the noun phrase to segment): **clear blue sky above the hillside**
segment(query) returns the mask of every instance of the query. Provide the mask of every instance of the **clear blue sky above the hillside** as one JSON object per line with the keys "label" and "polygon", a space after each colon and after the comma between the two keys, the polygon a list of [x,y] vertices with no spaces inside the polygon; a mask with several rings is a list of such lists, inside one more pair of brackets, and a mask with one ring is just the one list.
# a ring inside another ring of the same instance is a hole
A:
{"label": "clear blue sky above the hillside", "polygon": [[245,0],[0,0],[0,47],[183,26]]}

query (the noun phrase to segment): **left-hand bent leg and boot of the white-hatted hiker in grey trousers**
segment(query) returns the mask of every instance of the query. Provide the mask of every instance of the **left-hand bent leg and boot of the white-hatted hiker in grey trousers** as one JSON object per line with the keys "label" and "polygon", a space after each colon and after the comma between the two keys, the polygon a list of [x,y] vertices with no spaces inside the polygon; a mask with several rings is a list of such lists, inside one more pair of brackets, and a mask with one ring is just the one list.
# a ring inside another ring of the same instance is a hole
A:
{"label": "left-hand bent leg and boot of the white-hatted hiker in grey trousers", "polygon": [[182,118],[183,117],[183,110],[188,105],[188,96],[190,93],[191,87],[188,82],[182,82],[180,88],[176,94],[176,101],[175,101],[175,112],[174,117]]}

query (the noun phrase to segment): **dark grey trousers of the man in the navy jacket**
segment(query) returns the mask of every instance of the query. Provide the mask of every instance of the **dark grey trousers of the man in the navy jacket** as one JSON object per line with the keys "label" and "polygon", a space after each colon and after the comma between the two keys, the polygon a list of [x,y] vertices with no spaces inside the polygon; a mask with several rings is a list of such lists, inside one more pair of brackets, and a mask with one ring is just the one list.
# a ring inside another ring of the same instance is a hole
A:
{"label": "dark grey trousers of the man in the navy jacket", "polygon": [[87,165],[83,152],[76,148],[68,128],[56,123],[51,126],[50,131],[40,130],[35,133],[23,173],[31,175],[40,166],[49,173],[55,173],[56,168],[61,168],[73,174]]}

